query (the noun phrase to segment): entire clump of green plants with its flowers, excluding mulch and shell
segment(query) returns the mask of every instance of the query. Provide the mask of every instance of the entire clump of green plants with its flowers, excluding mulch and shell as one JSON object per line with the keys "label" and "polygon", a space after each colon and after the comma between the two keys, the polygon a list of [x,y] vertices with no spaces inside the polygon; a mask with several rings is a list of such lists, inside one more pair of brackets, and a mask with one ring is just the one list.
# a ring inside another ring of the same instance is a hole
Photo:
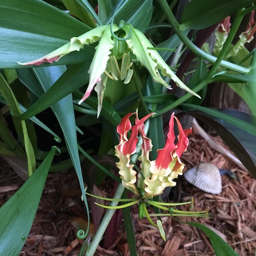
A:
{"label": "entire clump of green plants with its flowers, excluding mulch and shell", "polygon": [[[207,217],[208,209],[177,209],[193,205],[193,199],[165,203],[160,197],[176,185],[184,168],[181,155],[192,131],[183,129],[183,115],[209,124],[256,177],[256,53],[246,48],[256,30],[256,2],[191,0],[178,22],[175,10],[182,2],[2,0],[0,154],[27,162],[28,171],[24,185],[0,208],[1,255],[22,250],[48,173],[72,166],[89,224],[87,195],[111,201],[109,206],[96,203],[108,211],[92,241],[89,225],[78,231],[86,238],[80,255],[95,253],[118,208],[128,212],[124,222],[131,255],[136,246],[129,206],[138,205],[140,218],[158,227],[164,240],[162,216]],[[210,51],[212,33],[216,43]],[[225,82],[251,114],[202,106],[213,82]],[[41,120],[44,114],[48,122]],[[94,148],[89,126],[101,131]],[[120,178],[97,162],[95,153],[115,159]],[[82,173],[84,159],[97,166],[97,178],[89,170]],[[107,176],[119,182],[114,198],[89,194]],[[84,183],[90,186],[85,189]],[[127,190],[132,198],[125,198]],[[148,213],[151,206],[155,214]],[[208,235],[216,255],[237,255],[209,228],[187,224]]]}

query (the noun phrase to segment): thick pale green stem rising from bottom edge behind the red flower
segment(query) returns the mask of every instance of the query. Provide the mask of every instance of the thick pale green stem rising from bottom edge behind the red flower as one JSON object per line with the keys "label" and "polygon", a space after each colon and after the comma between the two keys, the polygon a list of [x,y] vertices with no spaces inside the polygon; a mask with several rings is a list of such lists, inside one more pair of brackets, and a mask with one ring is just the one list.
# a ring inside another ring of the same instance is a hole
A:
{"label": "thick pale green stem rising from bottom edge behind the red flower", "polygon": [[[123,191],[124,191],[123,184],[119,184],[114,198],[120,199],[122,194],[123,194]],[[110,205],[111,206],[117,206],[117,204],[118,204],[118,202],[112,202]],[[102,239],[103,234],[104,234],[106,228],[108,227],[114,213],[115,213],[115,209],[109,209],[106,212],[105,216],[103,217],[103,219],[102,219],[102,221],[99,225],[99,228],[98,228],[97,232],[95,233],[93,241],[90,244],[90,246],[89,246],[89,248],[86,252],[86,256],[93,256],[94,255],[94,253],[97,249],[97,246],[98,246],[100,240]]]}

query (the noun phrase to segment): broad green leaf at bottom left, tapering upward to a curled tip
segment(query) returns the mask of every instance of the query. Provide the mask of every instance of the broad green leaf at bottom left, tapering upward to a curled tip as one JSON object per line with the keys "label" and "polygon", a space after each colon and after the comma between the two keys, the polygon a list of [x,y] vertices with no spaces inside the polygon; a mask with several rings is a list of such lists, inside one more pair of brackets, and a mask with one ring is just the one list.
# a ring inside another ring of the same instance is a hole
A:
{"label": "broad green leaf at bottom left, tapering upward to a curled tip", "polygon": [[18,255],[35,218],[55,148],[22,187],[0,208],[0,255]]}

